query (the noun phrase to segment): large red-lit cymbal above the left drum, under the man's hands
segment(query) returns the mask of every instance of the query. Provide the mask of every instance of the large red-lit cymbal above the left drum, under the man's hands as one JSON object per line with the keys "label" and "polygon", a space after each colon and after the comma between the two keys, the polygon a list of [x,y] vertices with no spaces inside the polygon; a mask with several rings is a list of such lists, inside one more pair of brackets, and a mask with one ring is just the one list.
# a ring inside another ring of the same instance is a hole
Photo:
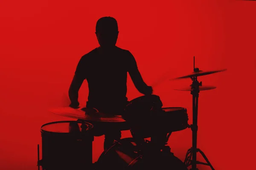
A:
{"label": "large red-lit cymbal above the left drum, under the man's hands", "polygon": [[87,121],[94,122],[125,122],[122,116],[109,115],[106,113],[101,113],[99,111],[95,111],[93,109],[87,109],[85,107],[74,109],[69,106],[67,107],[59,107],[53,108],[49,110],[51,113],[70,117],[74,119],[82,119]]}

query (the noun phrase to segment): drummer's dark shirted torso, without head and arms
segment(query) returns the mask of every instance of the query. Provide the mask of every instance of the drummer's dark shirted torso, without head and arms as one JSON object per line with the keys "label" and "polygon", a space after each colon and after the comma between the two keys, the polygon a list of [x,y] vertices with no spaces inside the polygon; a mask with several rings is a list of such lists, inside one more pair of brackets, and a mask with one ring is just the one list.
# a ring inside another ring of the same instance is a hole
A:
{"label": "drummer's dark shirted torso, without head and arms", "polygon": [[129,57],[129,51],[118,47],[111,51],[95,48],[82,57],[80,67],[89,88],[87,105],[108,110],[127,104]]}

